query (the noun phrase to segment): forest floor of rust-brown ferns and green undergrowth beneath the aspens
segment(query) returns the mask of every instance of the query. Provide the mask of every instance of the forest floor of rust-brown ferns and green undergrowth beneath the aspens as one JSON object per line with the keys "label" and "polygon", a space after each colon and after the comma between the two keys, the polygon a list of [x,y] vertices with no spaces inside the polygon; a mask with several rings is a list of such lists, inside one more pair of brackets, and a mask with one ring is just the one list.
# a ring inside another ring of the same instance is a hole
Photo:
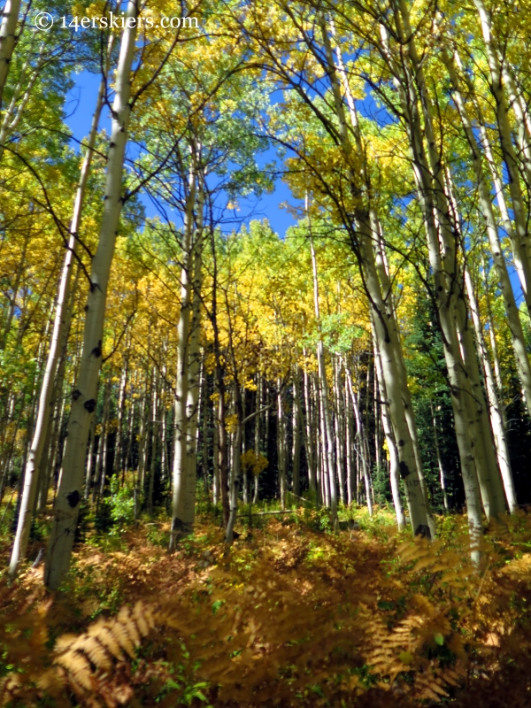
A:
{"label": "forest floor of rust-brown ferns and green undergrowth beneath the aspens", "polygon": [[229,554],[206,510],[173,553],[165,513],[86,520],[60,592],[31,561],[0,585],[0,704],[529,706],[531,516],[491,525],[479,568],[463,517],[428,543],[341,516],[240,519]]}

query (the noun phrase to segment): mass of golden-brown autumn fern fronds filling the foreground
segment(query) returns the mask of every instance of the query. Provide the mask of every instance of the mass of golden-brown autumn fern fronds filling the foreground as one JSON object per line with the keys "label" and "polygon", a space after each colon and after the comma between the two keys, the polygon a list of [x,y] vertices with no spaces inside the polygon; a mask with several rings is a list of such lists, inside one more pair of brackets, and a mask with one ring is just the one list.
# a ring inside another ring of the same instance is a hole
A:
{"label": "mass of golden-brown autumn fern fronds filling the foreground", "polygon": [[[519,523],[518,537],[527,538],[531,518]],[[27,596],[17,604],[0,586],[9,616],[0,641],[15,667],[0,704],[29,708],[46,695],[71,708],[74,695],[90,708],[133,700],[161,708],[188,700],[215,708],[427,701],[465,708],[468,699],[483,708],[509,704],[517,690],[528,695],[531,557],[512,559],[506,535],[487,538],[478,571],[465,536],[345,543],[272,528],[274,541],[236,549],[208,571],[208,584],[205,572],[190,581],[182,558],[159,564],[159,587],[178,591],[61,635],[51,666],[48,628],[58,615]],[[124,563],[123,573],[137,565],[138,558]],[[196,567],[193,558],[189,565]],[[181,584],[172,586],[176,575]]]}

